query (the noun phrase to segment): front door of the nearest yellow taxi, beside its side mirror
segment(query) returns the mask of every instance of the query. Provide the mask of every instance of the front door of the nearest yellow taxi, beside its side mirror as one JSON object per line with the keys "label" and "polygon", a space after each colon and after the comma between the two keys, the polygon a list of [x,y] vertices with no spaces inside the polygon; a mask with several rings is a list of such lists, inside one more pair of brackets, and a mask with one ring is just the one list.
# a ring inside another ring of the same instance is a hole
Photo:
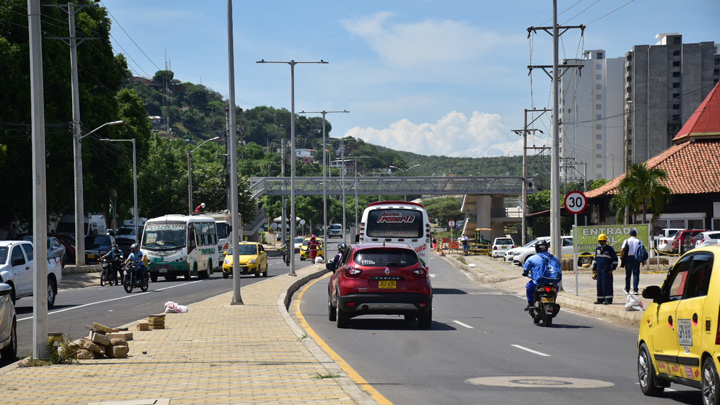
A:
{"label": "front door of the nearest yellow taxi, beside its side mirror", "polygon": [[[659,373],[685,378],[685,370],[678,364],[678,319],[677,310],[682,302],[683,293],[687,286],[687,278],[692,264],[692,258],[683,256],[673,266],[672,272],[663,283],[660,303],[648,310],[655,309],[653,325],[649,329],[649,350],[655,358],[656,369]],[[685,331],[685,321],[680,329]]]}

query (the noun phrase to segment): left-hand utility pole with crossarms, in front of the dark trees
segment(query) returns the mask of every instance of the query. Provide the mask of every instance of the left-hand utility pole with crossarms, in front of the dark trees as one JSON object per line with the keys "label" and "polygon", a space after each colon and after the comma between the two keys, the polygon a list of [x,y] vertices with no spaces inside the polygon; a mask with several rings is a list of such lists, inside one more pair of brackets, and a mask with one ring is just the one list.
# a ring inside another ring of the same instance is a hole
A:
{"label": "left-hand utility pole with crossarms, in front of the dark trees", "polygon": [[73,104],[73,162],[75,174],[75,265],[85,265],[85,206],[83,198],[83,177],[82,177],[82,126],[80,123],[80,85],[78,83],[77,47],[88,39],[75,36],[75,14],[85,7],[94,7],[83,4],[68,3],[47,4],[45,7],[59,7],[68,15],[69,37],[50,37],[59,39],[70,47],[70,87],[72,89]]}

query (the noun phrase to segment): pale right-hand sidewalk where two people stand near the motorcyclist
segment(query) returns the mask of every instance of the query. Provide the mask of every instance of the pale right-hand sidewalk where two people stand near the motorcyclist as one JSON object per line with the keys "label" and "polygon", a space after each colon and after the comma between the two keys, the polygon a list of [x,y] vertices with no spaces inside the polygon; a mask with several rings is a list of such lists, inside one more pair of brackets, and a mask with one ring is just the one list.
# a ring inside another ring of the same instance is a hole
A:
{"label": "pale right-hand sidewalk where two people stand near the motorcyclist", "polygon": [[[435,254],[435,253],[432,253]],[[502,259],[493,259],[489,256],[462,256],[461,254],[448,254],[446,259],[458,268],[464,269],[473,274],[481,283],[499,288],[504,291],[516,293],[525,297],[525,284],[527,277],[522,277],[522,268],[514,264],[505,263]],[[667,274],[667,266],[641,267],[640,271],[640,292],[649,285],[662,285]],[[615,298],[611,305],[596,305],[597,299],[596,281],[592,279],[592,272],[589,269],[578,272],[578,288],[576,294],[575,273],[563,271],[563,288],[565,291],[558,295],[558,303],[565,309],[573,309],[585,314],[594,316],[611,317],[629,325],[638,325],[642,318],[642,311],[625,311],[627,295],[623,293],[625,287],[625,269],[618,268],[613,272]],[[645,308],[650,305],[651,300],[637,296]],[[560,315],[562,316],[562,309]]]}

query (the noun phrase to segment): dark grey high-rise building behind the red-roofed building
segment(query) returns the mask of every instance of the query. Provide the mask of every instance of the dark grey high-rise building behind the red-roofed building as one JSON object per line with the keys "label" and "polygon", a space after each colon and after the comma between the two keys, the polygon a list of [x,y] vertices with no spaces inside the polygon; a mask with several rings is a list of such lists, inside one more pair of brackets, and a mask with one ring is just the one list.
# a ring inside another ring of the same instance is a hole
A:
{"label": "dark grey high-rise building behind the red-roofed building", "polygon": [[680,34],[658,34],[655,45],[625,55],[625,159],[644,162],[672,139],[720,79],[713,42],[683,44]]}

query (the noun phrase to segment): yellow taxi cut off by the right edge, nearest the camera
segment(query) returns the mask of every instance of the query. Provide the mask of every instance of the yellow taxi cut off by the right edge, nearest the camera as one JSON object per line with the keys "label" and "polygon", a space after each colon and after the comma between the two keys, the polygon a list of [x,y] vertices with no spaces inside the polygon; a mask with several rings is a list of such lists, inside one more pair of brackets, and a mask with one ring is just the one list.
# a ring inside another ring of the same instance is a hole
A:
{"label": "yellow taxi cut off by the right edge, nearest the camera", "polygon": [[662,287],[642,295],[653,300],[638,335],[642,392],[657,396],[677,383],[701,389],[705,404],[720,404],[720,245],[684,254]]}

